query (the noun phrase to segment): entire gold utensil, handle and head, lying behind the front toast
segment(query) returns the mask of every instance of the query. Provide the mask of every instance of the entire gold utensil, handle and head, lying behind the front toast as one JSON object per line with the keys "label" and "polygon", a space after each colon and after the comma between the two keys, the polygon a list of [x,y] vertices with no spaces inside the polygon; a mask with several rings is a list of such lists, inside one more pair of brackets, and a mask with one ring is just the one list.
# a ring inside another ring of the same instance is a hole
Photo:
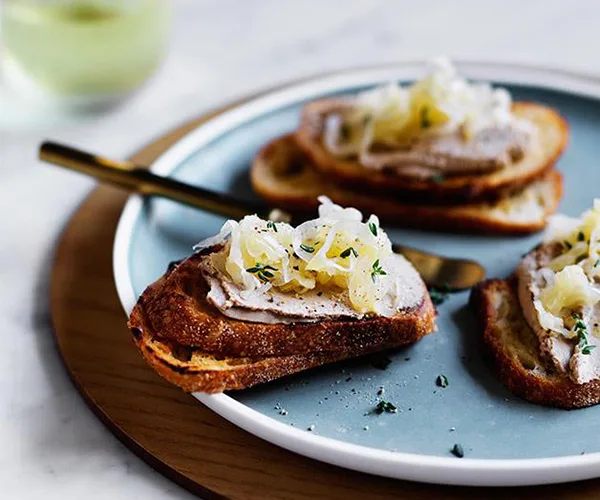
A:
{"label": "entire gold utensil, handle and head, lying behind the front toast", "polygon": [[[41,145],[39,157],[47,163],[82,172],[99,181],[145,196],[168,198],[231,219],[257,214],[264,219],[295,223],[305,220],[307,215],[290,213],[262,203],[241,200],[229,194],[185,184],[153,174],[130,161],[109,160],[53,142],[44,142]],[[473,260],[442,257],[404,245],[394,244],[393,249],[412,263],[428,286],[463,290],[485,278],[485,269]]]}

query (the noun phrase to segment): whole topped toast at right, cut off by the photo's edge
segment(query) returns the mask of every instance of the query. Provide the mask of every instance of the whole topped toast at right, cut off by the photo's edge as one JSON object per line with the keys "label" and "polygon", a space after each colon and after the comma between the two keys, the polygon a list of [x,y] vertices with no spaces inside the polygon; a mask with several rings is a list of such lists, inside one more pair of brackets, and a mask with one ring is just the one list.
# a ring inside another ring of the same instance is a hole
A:
{"label": "whole topped toast at right, cut off by the photo's edge", "polygon": [[543,405],[600,402],[600,200],[555,216],[515,275],[478,284],[471,306],[499,378]]}

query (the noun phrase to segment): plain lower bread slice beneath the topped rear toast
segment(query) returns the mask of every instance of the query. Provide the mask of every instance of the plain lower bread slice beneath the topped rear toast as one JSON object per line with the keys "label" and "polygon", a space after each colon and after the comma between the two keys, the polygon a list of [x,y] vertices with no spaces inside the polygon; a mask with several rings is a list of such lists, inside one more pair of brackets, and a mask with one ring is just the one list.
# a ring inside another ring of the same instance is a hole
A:
{"label": "plain lower bread slice beneath the topped rear toast", "polygon": [[275,139],[258,153],[250,178],[259,196],[282,208],[313,210],[318,206],[317,196],[325,195],[340,205],[375,213],[392,225],[445,231],[508,234],[539,231],[562,196],[562,177],[551,169],[526,189],[495,203],[403,203],[370,193],[367,186],[358,192],[326,179],[314,170],[292,135]]}

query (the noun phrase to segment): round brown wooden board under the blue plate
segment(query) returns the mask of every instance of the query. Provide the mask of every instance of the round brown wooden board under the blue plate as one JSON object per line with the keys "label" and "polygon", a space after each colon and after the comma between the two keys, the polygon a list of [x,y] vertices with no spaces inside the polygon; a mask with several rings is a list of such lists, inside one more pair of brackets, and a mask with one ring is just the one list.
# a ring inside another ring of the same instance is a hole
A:
{"label": "round brown wooden board under the blue plate", "polygon": [[[133,158],[150,164],[202,120]],[[126,328],[112,275],[112,244],[125,203],[99,187],[62,235],[52,272],[56,343],[92,411],[157,471],[204,498],[596,499],[600,480],[512,489],[435,486],[370,476],[310,460],[238,429],[171,386],[142,360]]]}

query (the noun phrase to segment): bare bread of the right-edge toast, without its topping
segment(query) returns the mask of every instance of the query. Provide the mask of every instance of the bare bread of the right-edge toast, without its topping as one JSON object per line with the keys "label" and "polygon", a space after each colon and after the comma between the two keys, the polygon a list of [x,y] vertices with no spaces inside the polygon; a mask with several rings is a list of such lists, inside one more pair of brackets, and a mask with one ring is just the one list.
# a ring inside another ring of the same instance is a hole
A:
{"label": "bare bread of the right-edge toast, without its topping", "polygon": [[511,392],[533,403],[567,409],[600,402],[599,380],[576,384],[541,355],[538,337],[523,316],[514,279],[480,283],[472,290],[470,303],[500,380]]}

